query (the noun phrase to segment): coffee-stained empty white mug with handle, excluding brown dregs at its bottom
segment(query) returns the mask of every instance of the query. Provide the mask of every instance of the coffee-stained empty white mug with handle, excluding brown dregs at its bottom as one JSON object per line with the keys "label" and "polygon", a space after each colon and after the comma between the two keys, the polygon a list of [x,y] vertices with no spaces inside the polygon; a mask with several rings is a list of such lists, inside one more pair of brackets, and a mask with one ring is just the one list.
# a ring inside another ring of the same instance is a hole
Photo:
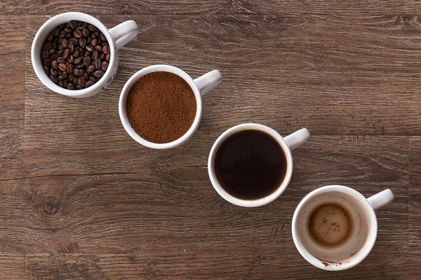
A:
{"label": "coffee-stained empty white mug with handle, excluding brown dregs at its bottom", "polygon": [[[392,202],[391,190],[383,190],[372,197],[345,186],[325,186],[313,190],[298,204],[293,216],[293,240],[298,251],[315,267],[326,270],[343,270],[358,265],[373,248],[377,237],[375,210]],[[335,202],[349,211],[354,230],[349,240],[335,248],[324,248],[314,243],[309,236],[308,220],[312,211],[320,204]]]}

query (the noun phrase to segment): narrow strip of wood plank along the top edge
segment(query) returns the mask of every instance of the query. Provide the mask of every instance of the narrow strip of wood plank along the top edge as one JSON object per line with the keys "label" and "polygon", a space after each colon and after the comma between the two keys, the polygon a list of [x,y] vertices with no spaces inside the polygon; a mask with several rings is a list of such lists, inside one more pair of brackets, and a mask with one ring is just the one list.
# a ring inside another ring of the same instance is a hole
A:
{"label": "narrow strip of wood plank along the top edge", "polygon": [[232,13],[235,15],[302,15],[308,13],[331,15],[408,15],[419,14],[421,5],[418,1],[399,0],[345,0],[345,1],[271,1],[271,0],[206,0],[206,1],[153,1],[131,0],[116,1],[15,1],[0,3],[1,15],[55,15],[65,12],[83,12],[105,15],[185,15],[209,13]]}

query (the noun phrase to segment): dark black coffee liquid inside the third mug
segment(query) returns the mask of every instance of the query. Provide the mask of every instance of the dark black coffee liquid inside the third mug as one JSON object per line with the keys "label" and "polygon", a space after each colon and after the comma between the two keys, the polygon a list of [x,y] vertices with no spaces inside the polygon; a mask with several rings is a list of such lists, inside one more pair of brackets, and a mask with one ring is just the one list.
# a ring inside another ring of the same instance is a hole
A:
{"label": "dark black coffee liquid inside the third mug", "polygon": [[258,200],[281,186],[287,161],[281,145],[271,135],[241,130],[218,148],[214,167],[227,193],[241,200]]}

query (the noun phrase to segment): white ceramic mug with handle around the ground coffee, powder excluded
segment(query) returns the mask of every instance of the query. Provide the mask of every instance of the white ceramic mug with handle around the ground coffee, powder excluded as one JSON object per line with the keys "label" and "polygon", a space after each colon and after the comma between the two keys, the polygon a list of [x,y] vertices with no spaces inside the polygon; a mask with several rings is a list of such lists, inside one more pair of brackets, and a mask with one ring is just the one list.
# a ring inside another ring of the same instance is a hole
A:
{"label": "white ceramic mug with handle around the ground coffee, powder excluded", "polygon": [[[187,130],[187,132],[180,137],[179,139],[165,143],[165,144],[157,144],[150,141],[147,141],[140,137],[135,130],[131,127],[130,123],[128,122],[127,113],[126,113],[126,100],[128,92],[130,91],[131,87],[140,79],[142,76],[145,76],[147,73],[152,73],[156,71],[163,71],[163,72],[170,72],[175,73],[176,75],[183,78],[194,92],[194,97],[196,97],[196,117],[194,118],[192,126]],[[126,132],[139,144],[143,146],[147,146],[149,148],[155,149],[166,149],[166,148],[174,148],[176,146],[180,146],[185,141],[187,141],[194,132],[196,132],[197,128],[199,127],[201,115],[202,115],[202,102],[201,96],[206,94],[214,87],[218,86],[222,82],[222,75],[220,71],[213,70],[210,71],[199,78],[193,80],[192,77],[189,76],[185,71],[181,69],[170,66],[170,65],[152,65],[147,66],[146,68],[136,72],[131,78],[128,79],[126,85],[124,85],[123,90],[121,90],[120,94],[120,101],[119,101],[119,114],[121,123],[123,124],[124,129]]]}

